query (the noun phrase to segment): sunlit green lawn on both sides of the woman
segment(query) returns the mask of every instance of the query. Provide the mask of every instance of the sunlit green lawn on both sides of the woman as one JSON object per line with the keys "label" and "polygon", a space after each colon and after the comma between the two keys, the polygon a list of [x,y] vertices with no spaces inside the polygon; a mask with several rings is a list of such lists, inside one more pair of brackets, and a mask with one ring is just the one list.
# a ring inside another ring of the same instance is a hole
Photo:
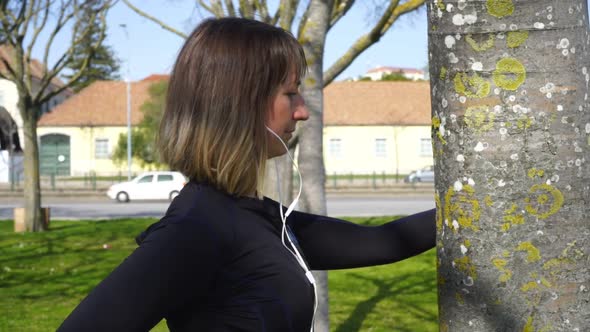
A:
{"label": "sunlit green lawn on both sides of the woman", "polygon": [[[0,331],[54,331],[154,221],[52,221],[50,231],[37,234],[15,234],[12,221],[0,221]],[[434,250],[328,278],[331,331],[438,331]],[[152,331],[167,331],[166,324]]]}

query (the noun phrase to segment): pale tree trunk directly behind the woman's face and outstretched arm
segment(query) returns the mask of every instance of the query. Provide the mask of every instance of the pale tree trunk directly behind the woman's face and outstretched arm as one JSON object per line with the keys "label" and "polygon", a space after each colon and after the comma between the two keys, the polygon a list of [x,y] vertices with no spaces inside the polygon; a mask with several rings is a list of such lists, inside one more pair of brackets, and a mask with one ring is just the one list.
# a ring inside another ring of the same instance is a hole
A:
{"label": "pale tree trunk directly behind the woman's face and outstretched arm", "polygon": [[[311,0],[308,20],[298,36],[305,51],[309,72],[303,84],[303,96],[309,119],[302,123],[299,138],[299,169],[303,176],[301,209],[315,214],[326,214],[326,171],[323,157],[323,55],[330,22],[332,1]],[[317,284],[318,311],[315,331],[330,330],[328,308],[328,275],[314,272]]]}

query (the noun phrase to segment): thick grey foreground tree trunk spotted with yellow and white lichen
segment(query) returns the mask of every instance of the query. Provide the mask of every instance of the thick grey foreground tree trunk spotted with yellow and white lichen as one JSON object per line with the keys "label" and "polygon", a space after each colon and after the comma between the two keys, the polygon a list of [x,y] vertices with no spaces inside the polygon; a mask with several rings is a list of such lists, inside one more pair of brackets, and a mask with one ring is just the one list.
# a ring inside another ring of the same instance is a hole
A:
{"label": "thick grey foreground tree trunk spotted with yellow and white lichen", "polygon": [[586,1],[428,17],[440,331],[590,330]]}

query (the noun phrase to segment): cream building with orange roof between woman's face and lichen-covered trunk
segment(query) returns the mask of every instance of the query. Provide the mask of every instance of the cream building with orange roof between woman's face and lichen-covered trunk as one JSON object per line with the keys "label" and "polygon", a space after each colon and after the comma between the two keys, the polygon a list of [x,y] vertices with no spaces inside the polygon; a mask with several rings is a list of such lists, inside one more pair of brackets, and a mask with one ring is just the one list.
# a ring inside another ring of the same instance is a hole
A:
{"label": "cream building with orange roof between woman's face and lichen-covered trunk", "polygon": [[428,82],[334,82],[324,89],[327,174],[407,174],[432,165]]}

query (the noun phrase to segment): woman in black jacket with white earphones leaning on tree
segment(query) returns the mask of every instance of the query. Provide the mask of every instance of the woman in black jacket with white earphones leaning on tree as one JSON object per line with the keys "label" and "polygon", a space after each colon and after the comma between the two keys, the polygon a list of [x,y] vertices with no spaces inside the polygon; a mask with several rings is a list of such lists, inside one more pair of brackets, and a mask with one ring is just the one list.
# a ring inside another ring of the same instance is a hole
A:
{"label": "woman in black jacket with white earphones leaning on tree", "polygon": [[268,158],[309,117],[301,46],[284,30],[224,18],[199,25],[174,66],[158,137],[191,181],[139,247],[60,331],[309,331],[309,269],[395,262],[434,246],[435,211],[379,227],[260,198]]}

